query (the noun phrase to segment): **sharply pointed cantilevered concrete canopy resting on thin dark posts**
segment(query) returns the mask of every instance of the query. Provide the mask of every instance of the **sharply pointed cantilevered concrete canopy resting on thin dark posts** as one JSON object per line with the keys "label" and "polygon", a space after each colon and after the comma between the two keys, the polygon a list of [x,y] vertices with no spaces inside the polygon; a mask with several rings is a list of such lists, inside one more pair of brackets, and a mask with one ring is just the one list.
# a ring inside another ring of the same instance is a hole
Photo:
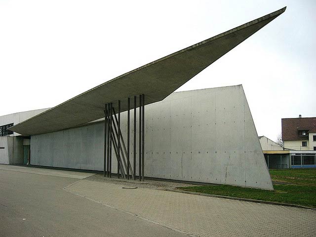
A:
{"label": "sharply pointed cantilevered concrete canopy resting on thin dark posts", "polygon": [[220,35],[160,58],[115,79],[96,86],[10,130],[35,135],[78,126],[104,118],[106,103],[121,100],[121,112],[127,110],[128,97],[144,94],[146,104],[163,100],[203,69],[253,35],[285,11],[277,10]]}

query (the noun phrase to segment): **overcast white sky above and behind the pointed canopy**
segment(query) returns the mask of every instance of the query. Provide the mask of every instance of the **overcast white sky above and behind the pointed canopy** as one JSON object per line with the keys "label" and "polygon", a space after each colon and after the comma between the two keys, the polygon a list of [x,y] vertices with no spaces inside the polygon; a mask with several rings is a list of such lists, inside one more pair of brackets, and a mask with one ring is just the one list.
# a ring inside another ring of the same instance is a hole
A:
{"label": "overcast white sky above and behind the pointed canopy", "polygon": [[181,90],[242,84],[258,135],[316,117],[315,0],[0,0],[0,116],[54,107],[287,6]]}

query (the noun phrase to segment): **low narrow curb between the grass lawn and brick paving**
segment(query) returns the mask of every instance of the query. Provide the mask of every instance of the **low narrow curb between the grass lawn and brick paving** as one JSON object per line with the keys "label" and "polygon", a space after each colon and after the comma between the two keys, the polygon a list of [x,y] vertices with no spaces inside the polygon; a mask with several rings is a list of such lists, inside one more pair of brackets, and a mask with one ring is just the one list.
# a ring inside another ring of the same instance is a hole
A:
{"label": "low narrow curb between the grass lawn and brick paving", "polygon": [[228,197],[228,196],[213,195],[213,194],[202,194],[202,193],[195,193],[195,192],[176,190],[176,189],[159,189],[159,190],[175,192],[175,193],[182,193],[182,194],[193,194],[193,195],[206,196],[206,197],[218,197],[218,198],[233,199],[233,200],[238,200],[238,201],[250,201],[250,202],[257,202],[257,203],[264,203],[264,204],[290,206],[290,207],[298,207],[298,208],[316,210],[316,208],[313,208],[313,207],[290,204],[290,203],[283,203],[283,202],[263,201],[263,200],[247,199],[247,198],[240,198],[240,197]]}

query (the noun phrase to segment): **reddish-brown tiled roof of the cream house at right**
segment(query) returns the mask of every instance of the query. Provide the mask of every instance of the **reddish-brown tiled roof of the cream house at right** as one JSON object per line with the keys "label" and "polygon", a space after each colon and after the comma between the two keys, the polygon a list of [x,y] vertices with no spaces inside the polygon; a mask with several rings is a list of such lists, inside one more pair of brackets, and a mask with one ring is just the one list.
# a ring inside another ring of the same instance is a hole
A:
{"label": "reddish-brown tiled roof of the cream house at right", "polygon": [[282,118],[281,122],[283,141],[296,141],[308,139],[306,136],[299,136],[299,131],[316,132],[316,117]]}

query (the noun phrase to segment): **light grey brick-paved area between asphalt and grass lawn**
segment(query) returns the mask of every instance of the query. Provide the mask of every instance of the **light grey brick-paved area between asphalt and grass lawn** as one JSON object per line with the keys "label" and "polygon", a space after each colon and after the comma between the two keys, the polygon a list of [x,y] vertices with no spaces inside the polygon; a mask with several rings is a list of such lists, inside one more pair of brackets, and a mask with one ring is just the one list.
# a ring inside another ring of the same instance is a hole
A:
{"label": "light grey brick-paved area between asphalt and grass lawn", "polygon": [[81,180],[65,190],[192,236],[316,236],[316,210],[122,187]]}

